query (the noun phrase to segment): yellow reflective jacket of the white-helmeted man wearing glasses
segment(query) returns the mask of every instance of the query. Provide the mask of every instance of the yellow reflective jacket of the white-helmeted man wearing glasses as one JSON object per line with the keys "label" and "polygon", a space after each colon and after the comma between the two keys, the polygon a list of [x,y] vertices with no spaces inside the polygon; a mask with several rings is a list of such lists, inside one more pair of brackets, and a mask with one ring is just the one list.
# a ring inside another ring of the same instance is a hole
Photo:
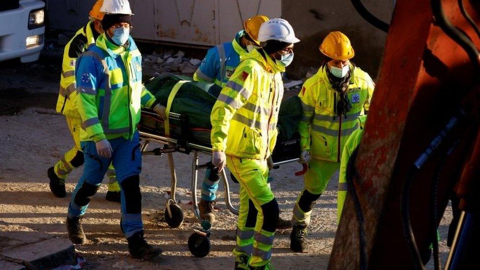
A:
{"label": "yellow reflective jacket of the white-helmeted man wearing glasses", "polygon": [[245,55],[213,105],[212,150],[252,159],[266,159],[273,151],[285,68],[262,53]]}

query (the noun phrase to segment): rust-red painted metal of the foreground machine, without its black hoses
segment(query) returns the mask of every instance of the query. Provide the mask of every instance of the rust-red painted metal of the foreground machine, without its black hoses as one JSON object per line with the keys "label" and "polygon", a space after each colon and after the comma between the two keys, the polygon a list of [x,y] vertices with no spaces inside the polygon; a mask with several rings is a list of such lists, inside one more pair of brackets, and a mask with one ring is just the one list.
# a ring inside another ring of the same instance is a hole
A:
{"label": "rust-red painted metal of the foreground machine, without its black hoses", "polygon": [[[464,2],[470,16],[480,25],[478,1]],[[444,0],[443,7],[452,24],[480,48],[480,39],[461,15],[457,0]],[[463,108],[466,120],[415,175],[411,189],[410,215],[417,246],[422,252],[430,245],[434,172],[441,172],[437,212],[442,216],[476,140],[480,78],[474,74],[465,51],[435,25],[430,1],[397,0],[356,160],[359,177],[354,177],[365,220],[369,268],[413,268],[402,230],[402,184],[420,153]],[[444,160],[443,153],[455,141],[458,146]],[[356,221],[353,202],[347,196],[329,269],[359,269]]]}

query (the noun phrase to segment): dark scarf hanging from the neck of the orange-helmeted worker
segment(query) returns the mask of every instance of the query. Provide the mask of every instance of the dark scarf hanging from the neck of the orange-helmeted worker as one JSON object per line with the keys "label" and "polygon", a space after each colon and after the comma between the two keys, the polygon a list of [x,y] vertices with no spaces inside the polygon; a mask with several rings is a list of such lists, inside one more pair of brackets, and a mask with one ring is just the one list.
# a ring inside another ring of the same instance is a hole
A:
{"label": "dark scarf hanging from the neck of the orange-helmeted worker", "polygon": [[[347,117],[347,113],[352,109],[352,104],[350,104],[350,100],[348,99],[348,85],[350,84],[350,70],[348,71],[347,75],[343,78],[337,78],[330,73],[330,68],[327,64],[325,64],[325,69],[327,71],[327,77],[329,78],[329,82],[333,90],[337,92],[338,98],[334,100],[335,105],[333,107],[335,116],[343,115],[345,118]],[[333,119],[335,119],[335,116]]]}

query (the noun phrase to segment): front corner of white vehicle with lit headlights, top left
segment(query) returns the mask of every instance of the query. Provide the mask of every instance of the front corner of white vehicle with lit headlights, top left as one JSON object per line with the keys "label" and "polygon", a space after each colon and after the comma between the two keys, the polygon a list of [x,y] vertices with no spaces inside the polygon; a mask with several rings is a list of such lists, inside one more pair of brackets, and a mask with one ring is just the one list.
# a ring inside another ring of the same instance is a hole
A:
{"label": "front corner of white vehicle with lit headlights, top left", "polygon": [[45,3],[41,0],[0,1],[0,61],[38,60],[45,33]]}

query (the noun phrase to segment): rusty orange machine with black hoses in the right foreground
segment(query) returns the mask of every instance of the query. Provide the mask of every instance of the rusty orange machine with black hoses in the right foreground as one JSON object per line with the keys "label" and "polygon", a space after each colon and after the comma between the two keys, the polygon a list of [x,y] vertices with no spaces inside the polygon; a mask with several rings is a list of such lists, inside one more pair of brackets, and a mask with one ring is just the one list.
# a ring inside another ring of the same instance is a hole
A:
{"label": "rusty orange machine with black hoses in the right foreground", "polygon": [[397,0],[380,24],[389,35],[329,269],[422,269],[450,198],[463,212],[446,268],[476,261],[479,22],[478,0]]}

